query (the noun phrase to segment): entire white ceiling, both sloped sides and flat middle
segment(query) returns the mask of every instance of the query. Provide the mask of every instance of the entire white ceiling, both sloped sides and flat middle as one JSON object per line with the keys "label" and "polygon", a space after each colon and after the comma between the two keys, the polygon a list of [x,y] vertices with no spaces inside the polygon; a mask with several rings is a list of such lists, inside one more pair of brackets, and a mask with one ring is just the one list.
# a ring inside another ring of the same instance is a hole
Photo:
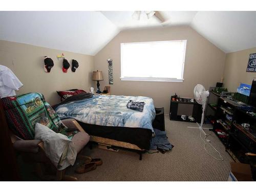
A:
{"label": "entire white ceiling, both sloped sides and flat middle", "polygon": [[225,53],[256,47],[256,12],[162,11],[132,19],[133,11],[0,12],[0,39],[95,55],[120,31],[188,25]]}

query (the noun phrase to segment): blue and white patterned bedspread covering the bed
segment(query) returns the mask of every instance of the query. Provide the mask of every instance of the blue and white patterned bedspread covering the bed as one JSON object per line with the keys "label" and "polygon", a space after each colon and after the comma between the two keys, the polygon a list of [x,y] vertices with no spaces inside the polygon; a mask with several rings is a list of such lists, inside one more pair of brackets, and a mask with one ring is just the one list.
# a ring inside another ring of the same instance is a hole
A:
{"label": "blue and white patterned bedspread covering the bed", "polygon": [[[142,112],[126,108],[129,100],[145,102]],[[78,121],[104,126],[141,127],[151,129],[156,112],[153,99],[134,96],[94,96],[62,104],[55,109],[60,119],[74,118]]]}

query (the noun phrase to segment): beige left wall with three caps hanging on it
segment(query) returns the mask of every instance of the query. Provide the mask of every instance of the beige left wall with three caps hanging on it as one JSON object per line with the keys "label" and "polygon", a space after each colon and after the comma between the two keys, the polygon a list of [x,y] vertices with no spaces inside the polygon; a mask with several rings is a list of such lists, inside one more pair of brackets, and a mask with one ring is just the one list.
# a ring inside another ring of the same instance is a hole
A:
{"label": "beige left wall with three caps hanging on it", "polygon": [[[76,59],[79,68],[68,73],[62,72],[62,59],[57,60],[57,55],[65,54],[71,65],[71,60]],[[54,61],[50,73],[44,71],[44,56],[49,56]],[[10,68],[24,84],[16,94],[40,92],[45,95],[50,104],[59,102],[56,90],[83,89],[89,91],[93,85],[91,73],[94,69],[93,56],[60,51],[16,42],[0,40],[0,65]]]}

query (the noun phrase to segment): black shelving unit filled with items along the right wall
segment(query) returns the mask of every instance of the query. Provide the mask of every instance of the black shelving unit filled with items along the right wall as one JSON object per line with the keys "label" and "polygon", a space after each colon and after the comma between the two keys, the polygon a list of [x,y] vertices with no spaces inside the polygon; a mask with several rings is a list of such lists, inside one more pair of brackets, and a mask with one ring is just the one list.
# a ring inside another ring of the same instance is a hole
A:
{"label": "black shelving unit filled with items along the right wall", "polygon": [[[248,113],[248,109],[251,109],[250,111],[254,113],[256,112],[255,108],[244,107],[236,101],[220,97],[216,111],[217,121],[213,129],[225,145],[226,151],[231,152],[241,163],[247,164],[252,161],[245,154],[256,153],[256,114]],[[229,117],[232,117],[230,120],[226,119],[227,114]],[[242,126],[243,123],[248,123],[250,129],[245,130]],[[225,138],[220,137],[217,133],[218,130],[222,130],[227,136]],[[252,172],[255,175],[255,169]]]}

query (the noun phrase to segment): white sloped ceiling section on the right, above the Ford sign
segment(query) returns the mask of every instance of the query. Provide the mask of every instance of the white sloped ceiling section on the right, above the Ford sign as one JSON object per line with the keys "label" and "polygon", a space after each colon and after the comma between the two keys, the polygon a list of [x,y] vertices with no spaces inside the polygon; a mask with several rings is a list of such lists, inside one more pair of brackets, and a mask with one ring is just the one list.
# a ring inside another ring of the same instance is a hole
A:
{"label": "white sloped ceiling section on the right, above the Ford sign", "polygon": [[226,53],[256,47],[256,11],[198,12],[191,27]]}

